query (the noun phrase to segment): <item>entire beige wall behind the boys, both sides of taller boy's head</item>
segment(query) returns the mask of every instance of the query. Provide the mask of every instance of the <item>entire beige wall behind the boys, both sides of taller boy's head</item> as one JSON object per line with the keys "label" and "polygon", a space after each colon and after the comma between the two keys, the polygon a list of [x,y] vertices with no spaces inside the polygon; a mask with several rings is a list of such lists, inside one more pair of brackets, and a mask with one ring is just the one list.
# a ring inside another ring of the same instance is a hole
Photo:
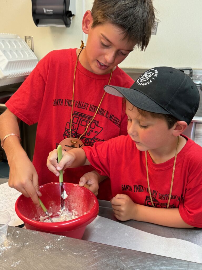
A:
{"label": "entire beige wall behind the boys, both sides of taller boy's head", "polygon": [[[81,39],[85,38],[81,29],[82,15],[92,3],[93,0],[76,0],[76,16],[71,27],[56,28],[35,26],[31,0],[1,0],[0,32],[15,33],[21,38],[33,35],[34,53],[40,60],[51,50],[80,46]],[[145,52],[135,50],[120,67],[165,65],[202,69],[202,1],[154,0],[154,6],[160,21],[156,35],[151,36]]]}

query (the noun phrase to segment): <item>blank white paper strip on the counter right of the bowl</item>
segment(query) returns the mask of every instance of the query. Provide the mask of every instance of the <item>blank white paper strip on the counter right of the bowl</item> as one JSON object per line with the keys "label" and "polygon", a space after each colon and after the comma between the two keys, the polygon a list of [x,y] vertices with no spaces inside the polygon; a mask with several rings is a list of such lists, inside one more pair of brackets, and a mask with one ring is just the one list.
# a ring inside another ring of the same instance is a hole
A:
{"label": "blank white paper strip on the counter right of the bowl", "polygon": [[202,247],[196,244],[150,234],[100,216],[86,227],[82,239],[202,264]]}

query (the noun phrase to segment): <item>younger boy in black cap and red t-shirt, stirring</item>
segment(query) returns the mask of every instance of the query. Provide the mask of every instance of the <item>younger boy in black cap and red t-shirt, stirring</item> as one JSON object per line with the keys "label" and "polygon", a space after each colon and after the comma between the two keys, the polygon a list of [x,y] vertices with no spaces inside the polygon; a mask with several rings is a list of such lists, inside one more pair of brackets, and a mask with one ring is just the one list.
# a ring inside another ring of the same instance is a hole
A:
{"label": "younger boy in black cap and red t-shirt, stirring", "polygon": [[[59,164],[53,151],[49,170],[91,164],[109,176],[121,221],[202,227],[202,148],[182,135],[199,106],[196,85],[180,70],[157,67],[130,89],[106,85],[105,91],[125,97],[128,136],[71,150]],[[96,191],[98,183],[90,188]]]}

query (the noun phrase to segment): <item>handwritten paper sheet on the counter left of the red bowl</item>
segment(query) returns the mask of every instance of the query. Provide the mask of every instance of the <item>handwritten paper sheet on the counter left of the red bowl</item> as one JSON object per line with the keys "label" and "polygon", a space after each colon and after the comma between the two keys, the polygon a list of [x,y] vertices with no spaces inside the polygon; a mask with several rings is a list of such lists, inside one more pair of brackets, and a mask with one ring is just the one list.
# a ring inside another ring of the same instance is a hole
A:
{"label": "handwritten paper sheet on the counter left of the red bowl", "polygon": [[11,221],[8,225],[19,226],[23,221],[15,212],[15,202],[21,195],[15,188],[9,187],[8,183],[0,185],[0,210],[7,212],[11,216]]}

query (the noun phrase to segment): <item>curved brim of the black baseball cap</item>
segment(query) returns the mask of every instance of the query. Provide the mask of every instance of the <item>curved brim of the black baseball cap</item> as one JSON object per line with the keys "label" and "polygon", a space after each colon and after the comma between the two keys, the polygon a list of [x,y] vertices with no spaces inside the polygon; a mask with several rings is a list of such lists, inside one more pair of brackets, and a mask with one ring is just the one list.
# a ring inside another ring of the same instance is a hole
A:
{"label": "curved brim of the black baseball cap", "polygon": [[148,96],[142,94],[136,89],[124,88],[119,86],[105,85],[105,92],[118,96],[125,97],[135,107],[153,113],[170,114],[168,111],[163,109],[160,105],[150,99]]}

